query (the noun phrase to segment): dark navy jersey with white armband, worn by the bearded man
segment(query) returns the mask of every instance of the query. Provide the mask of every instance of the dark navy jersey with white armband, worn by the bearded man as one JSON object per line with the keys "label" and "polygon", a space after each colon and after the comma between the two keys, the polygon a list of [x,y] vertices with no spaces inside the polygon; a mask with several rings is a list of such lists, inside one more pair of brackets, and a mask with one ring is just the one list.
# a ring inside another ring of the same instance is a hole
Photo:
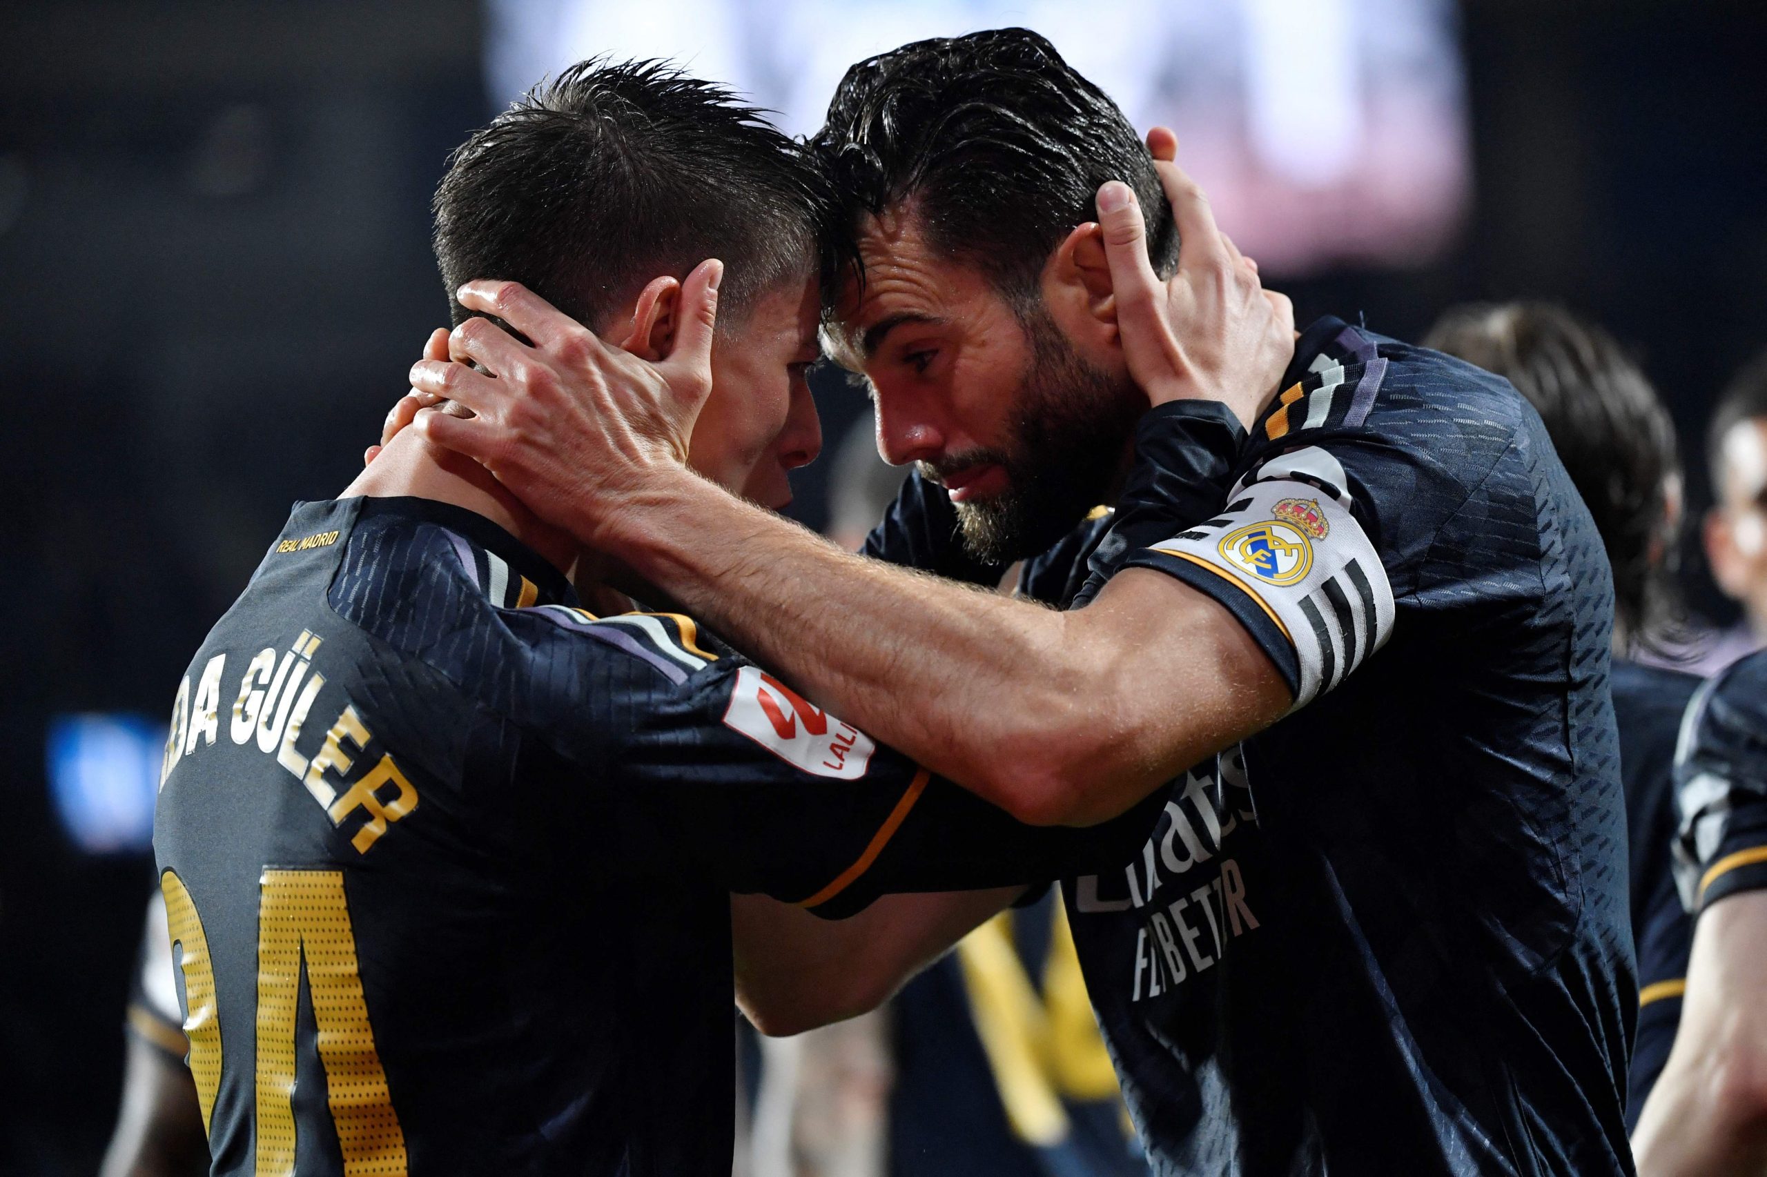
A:
{"label": "dark navy jersey with white armband, worn by the bearded man", "polygon": [[1612,576],[1534,410],[1323,320],[1249,438],[1143,419],[1076,603],[1122,567],[1219,601],[1295,695],[1064,880],[1154,1168],[1631,1172]]}

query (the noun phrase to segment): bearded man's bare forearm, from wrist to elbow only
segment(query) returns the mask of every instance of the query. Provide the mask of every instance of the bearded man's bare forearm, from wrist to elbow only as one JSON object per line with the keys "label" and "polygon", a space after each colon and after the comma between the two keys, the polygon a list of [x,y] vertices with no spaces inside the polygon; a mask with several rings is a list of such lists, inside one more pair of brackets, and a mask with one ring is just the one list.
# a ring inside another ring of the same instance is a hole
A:
{"label": "bearded man's bare forearm, from wrist to elbow only", "polygon": [[[608,546],[841,719],[1035,820],[1039,763],[1108,726],[1071,617],[885,566],[694,475],[659,481]],[[1101,765],[1103,767],[1103,765]],[[1133,801],[1133,799],[1131,799]]]}

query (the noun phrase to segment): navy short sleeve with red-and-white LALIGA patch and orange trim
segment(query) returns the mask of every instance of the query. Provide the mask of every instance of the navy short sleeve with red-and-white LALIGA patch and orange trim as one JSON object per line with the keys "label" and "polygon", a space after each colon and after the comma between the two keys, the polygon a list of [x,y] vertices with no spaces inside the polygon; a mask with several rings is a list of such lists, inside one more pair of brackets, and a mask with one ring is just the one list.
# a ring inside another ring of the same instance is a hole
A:
{"label": "navy short sleeve with red-and-white LALIGA patch and orange trim", "polygon": [[606,762],[618,788],[671,824],[684,862],[732,891],[839,917],[891,891],[1103,869],[1154,827],[1154,797],[1092,829],[1025,825],[753,663],[701,643],[687,650],[675,622],[652,620],[661,634],[645,634],[652,650],[673,647],[700,664],[680,664],[687,673],[656,682],[626,712]]}

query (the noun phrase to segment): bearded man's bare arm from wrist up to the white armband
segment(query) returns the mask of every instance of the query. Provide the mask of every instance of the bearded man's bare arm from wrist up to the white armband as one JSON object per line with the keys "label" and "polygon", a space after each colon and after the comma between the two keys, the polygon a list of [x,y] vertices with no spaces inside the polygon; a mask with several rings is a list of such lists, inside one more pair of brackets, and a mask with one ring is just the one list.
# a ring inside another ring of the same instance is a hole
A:
{"label": "bearded man's bare arm from wrist up to the white armband", "polygon": [[656,488],[638,530],[640,574],[1025,822],[1115,816],[1292,702],[1239,620],[1159,573],[1058,613],[848,555],[693,475]]}

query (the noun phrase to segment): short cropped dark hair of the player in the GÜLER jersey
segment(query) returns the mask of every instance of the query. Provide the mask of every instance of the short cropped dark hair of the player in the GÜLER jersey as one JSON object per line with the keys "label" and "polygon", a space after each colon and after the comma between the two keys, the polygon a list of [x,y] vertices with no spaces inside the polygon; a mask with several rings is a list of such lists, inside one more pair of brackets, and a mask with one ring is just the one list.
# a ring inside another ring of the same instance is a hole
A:
{"label": "short cropped dark hair of the player in the G\u00dcLER jersey", "polygon": [[518,281],[597,327],[650,279],[726,265],[719,322],[818,256],[818,173],[723,87],[666,62],[592,58],[474,131],[435,196],[454,290]]}

